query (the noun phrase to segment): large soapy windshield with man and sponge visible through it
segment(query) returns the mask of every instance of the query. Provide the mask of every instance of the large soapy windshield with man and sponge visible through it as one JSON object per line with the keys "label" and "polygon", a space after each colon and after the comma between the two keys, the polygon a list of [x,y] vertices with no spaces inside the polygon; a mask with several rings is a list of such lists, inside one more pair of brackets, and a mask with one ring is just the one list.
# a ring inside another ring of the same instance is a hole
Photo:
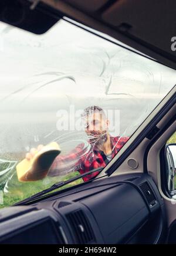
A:
{"label": "large soapy windshield with man and sponge visible through it", "polygon": [[175,84],[171,68],[63,20],[43,35],[1,22],[0,34],[0,206],[105,167]]}

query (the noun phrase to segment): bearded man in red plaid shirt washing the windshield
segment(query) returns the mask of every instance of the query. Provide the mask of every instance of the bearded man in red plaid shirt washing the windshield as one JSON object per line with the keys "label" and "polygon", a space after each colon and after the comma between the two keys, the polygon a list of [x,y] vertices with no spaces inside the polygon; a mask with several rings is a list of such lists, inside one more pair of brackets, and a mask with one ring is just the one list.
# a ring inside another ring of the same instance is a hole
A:
{"label": "bearded man in red plaid shirt washing the windshield", "polygon": [[[108,131],[109,120],[103,109],[98,106],[91,106],[84,109],[82,114],[84,130],[89,139],[89,150],[83,153],[83,145],[78,145],[72,152],[65,156],[57,156],[49,169],[48,176],[57,176],[68,168],[68,162],[74,162],[72,170],[80,174],[90,170],[105,167],[107,163],[119,152],[127,142],[128,137],[111,137]],[[38,150],[43,146],[39,145]],[[26,159],[31,159],[36,149],[31,149],[26,154]],[[97,176],[99,172],[91,173],[83,178],[84,182]]]}

